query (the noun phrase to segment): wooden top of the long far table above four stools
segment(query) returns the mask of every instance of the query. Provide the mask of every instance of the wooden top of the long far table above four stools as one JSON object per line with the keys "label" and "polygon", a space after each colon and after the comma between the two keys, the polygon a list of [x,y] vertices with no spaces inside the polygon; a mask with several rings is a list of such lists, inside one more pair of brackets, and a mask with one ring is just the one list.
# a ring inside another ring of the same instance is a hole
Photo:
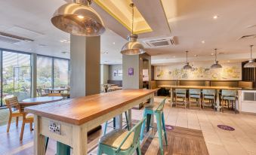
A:
{"label": "wooden top of the long far table above four stools", "polygon": [[161,88],[184,88],[184,89],[205,89],[205,90],[241,90],[239,87],[210,87],[210,86],[174,86],[174,85],[159,85]]}

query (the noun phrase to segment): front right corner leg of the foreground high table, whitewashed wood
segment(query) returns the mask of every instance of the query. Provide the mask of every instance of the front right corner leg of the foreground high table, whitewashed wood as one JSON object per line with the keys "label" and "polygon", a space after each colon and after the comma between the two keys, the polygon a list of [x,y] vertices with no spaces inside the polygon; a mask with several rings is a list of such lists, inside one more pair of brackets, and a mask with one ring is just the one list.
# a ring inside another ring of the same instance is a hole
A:
{"label": "front right corner leg of the foreground high table, whitewashed wood", "polygon": [[87,154],[87,128],[86,126],[72,126],[72,149],[73,154],[85,155]]}

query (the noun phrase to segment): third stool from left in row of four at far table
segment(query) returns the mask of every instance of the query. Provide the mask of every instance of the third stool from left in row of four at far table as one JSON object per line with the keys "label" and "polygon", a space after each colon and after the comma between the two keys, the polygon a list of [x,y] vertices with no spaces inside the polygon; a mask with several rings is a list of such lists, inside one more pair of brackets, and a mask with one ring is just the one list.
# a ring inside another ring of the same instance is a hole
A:
{"label": "third stool from left in row of four at far table", "polygon": [[202,108],[214,107],[216,90],[202,90]]}

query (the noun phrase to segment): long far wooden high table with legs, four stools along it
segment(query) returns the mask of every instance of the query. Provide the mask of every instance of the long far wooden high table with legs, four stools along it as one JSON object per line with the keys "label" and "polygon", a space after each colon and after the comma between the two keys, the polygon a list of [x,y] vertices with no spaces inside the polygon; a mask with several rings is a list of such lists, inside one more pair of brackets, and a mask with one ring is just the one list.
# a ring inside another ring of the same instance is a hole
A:
{"label": "long far wooden high table with legs, four stools along it", "polygon": [[174,86],[174,85],[159,85],[159,88],[168,88],[170,89],[170,96],[171,96],[171,105],[173,103],[173,90],[174,89],[200,89],[200,90],[216,90],[216,109],[220,111],[220,90],[242,90],[239,87],[210,87],[210,86]]}

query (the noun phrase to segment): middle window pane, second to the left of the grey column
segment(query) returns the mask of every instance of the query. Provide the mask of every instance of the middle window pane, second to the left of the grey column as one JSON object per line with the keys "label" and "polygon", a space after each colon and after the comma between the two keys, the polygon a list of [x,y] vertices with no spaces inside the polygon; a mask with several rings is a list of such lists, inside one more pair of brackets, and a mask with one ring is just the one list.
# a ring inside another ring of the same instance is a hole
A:
{"label": "middle window pane, second to the left of the grey column", "polygon": [[52,87],[52,58],[37,56],[37,88]]}

